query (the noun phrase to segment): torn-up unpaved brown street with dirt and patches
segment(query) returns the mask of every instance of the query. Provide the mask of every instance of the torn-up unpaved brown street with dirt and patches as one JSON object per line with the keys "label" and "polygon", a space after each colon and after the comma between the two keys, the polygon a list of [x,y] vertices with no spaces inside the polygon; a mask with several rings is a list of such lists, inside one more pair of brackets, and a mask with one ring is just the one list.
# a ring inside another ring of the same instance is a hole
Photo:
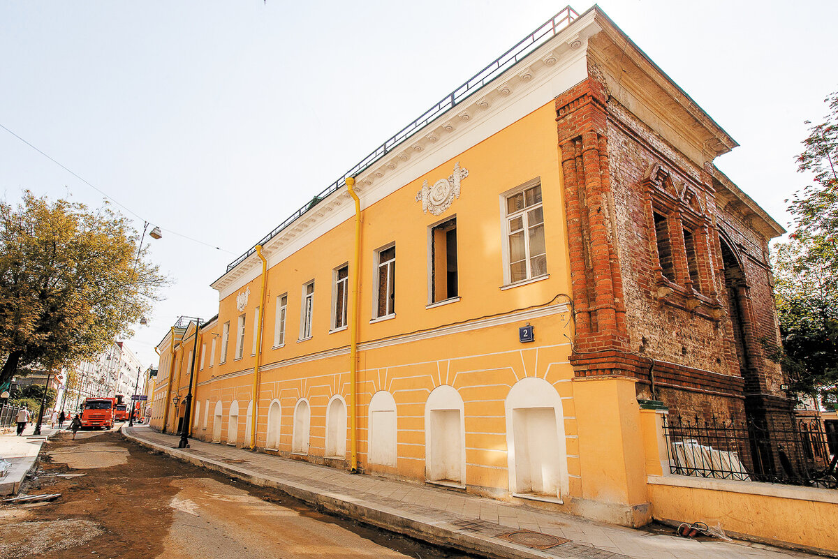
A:
{"label": "torn-up unpaved brown street with dirt and patches", "polygon": [[127,443],[115,432],[60,433],[24,492],[53,503],[0,506],[0,558],[465,558],[287,495]]}

